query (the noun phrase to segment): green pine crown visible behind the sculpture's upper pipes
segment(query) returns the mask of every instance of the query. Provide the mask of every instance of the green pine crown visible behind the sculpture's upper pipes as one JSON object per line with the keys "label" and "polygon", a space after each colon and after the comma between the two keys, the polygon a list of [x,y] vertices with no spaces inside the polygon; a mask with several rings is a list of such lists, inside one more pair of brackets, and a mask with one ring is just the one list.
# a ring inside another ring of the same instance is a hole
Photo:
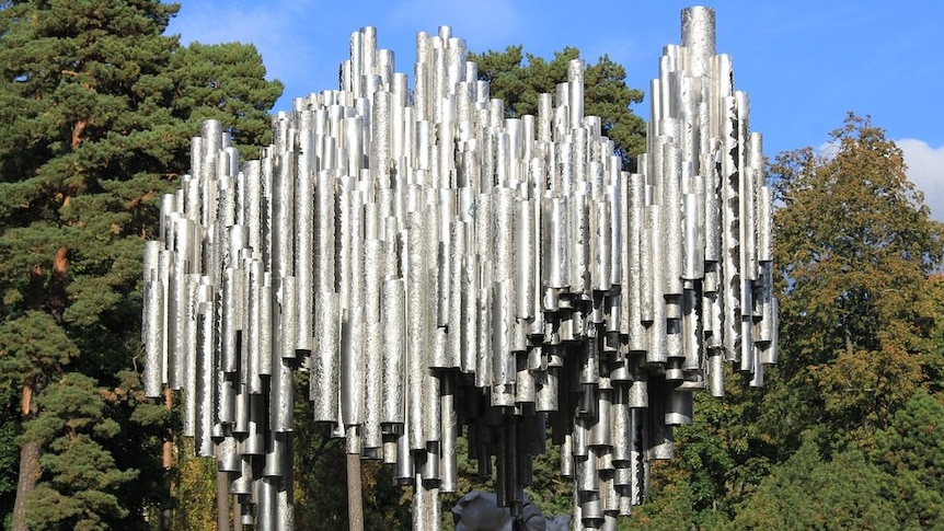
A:
{"label": "green pine crown visible behind the sculpture's upper pipes", "polygon": [[[509,46],[505,51],[470,54],[469,60],[479,64],[479,79],[491,83],[491,96],[505,101],[505,113],[519,117],[538,114],[539,95],[554,94],[557,83],[567,81],[567,62],[577,59],[579,54],[577,48],[565,47],[555,53],[551,61],[545,61],[523,54],[519,45]],[[623,168],[630,170],[635,168],[635,157],[646,149],[646,124],[630,108],[643,101],[643,92],[626,86],[625,79],[626,70],[609,56],[587,65],[584,113],[602,119],[603,135],[615,143]]]}

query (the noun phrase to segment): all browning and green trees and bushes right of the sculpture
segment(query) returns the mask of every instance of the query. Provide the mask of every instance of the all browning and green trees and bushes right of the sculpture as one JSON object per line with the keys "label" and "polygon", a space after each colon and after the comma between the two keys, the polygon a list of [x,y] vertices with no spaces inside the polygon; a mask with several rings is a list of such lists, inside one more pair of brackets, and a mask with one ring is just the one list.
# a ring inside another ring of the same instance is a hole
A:
{"label": "all browning and green trees and bushes right of the sculpture", "polygon": [[880,128],[850,114],[832,139],[769,169],[779,365],[763,389],[697,396],[637,527],[941,526],[941,403],[924,390],[944,389],[944,232]]}

